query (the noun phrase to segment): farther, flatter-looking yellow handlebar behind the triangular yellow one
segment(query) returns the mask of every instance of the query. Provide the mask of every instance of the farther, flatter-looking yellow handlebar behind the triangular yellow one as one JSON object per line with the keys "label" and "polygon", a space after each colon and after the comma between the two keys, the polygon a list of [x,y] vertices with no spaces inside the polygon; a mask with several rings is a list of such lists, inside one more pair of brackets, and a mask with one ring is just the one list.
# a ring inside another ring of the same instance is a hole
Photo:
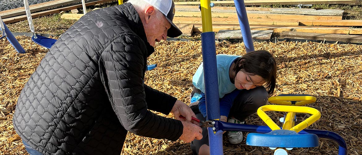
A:
{"label": "farther, flatter-looking yellow handlebar behind the triangular yellow one", "polygon": [[314,96],[273,96],[268,98],[270,103],[275,103],[279,105],[291,105],[290,101],[298,101],[295,102],[296,106],[307,105],[310,103],[314,103],[317,100]]}

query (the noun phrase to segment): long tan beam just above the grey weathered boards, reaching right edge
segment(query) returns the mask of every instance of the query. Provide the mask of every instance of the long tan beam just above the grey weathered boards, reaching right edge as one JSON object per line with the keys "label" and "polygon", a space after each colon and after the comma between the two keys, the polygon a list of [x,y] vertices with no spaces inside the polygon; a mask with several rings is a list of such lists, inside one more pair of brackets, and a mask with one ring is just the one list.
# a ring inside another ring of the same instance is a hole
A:
{"label": "long tan beam just above the grey weathered boards, reaching right edge", "polygon": [[[194,32],[202,32],[201,24],[194,24]],[[236,30],[240,29],[239,25],[219,25],[213,24],[212,31],[219,30]],[[349,27],[330,27],[330,26],[283,26],[283,25],[250,25],[251,30],[273,30],[274,33],[283,31],[309,32],[309,33],[329,33],[329,34],[362,34],[362,29]]]}

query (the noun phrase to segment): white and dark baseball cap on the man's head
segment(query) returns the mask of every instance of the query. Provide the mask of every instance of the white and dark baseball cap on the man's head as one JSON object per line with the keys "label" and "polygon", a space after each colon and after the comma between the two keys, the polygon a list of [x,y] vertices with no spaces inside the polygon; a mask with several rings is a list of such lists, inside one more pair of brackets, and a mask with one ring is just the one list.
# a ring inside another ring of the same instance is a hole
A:
{"label": "white and dark baseball cap on the man's head", "polygon": [[167,30],[168,37],[178,37],[182,34],[181,30],[173,24],[173,16],[175,15],[175,4],[172,0],[143,0],[162,12],[166,19],[170,22],[171,28]]}

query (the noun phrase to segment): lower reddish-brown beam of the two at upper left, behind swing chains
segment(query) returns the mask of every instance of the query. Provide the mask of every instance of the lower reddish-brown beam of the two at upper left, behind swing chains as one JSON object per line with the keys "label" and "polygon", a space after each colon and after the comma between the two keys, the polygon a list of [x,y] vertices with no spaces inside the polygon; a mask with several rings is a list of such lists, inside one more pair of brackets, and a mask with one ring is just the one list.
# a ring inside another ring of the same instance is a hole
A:
{"label": "lower reddish-brown beam of the two at upper left, behind swing chains", "polygon": [[[98,0],[98,1],[88,2],[88,3],[85,3],[85,6],[91,6],[91,5],[95,5],[95,4],[106,3],[106,2],[109,2],[109,1],[113,1],[113,0]],[[42,12],[31,13],[31,17],[32,18],[37,18],[37,17],[51,15],[51,14],[54,14],[54,13],[59,13],[59,12],[62,12],[62,11],[68,11],[68,10],[71,10],[71,9],[76,9],[76,8],[81,8],[81,7],[82,7],[82,4],[69,6],[69,7],[64,7],[64,8],[55,8],[55,9],[50,9],[50,10],[46,10],[46,11],[42,11]],[[77,15],[77,14],[73,14],[73,15]],[[15,23],[15,22],[18,22],[18,21],[26,20],[26,19],[27,19],[26,15],[21,15],[21,16],[16,16],[16,17],[10,17],[10,18],[3,19],[3,21],[4,21],[5,24],[8,24],[8,23]]]}

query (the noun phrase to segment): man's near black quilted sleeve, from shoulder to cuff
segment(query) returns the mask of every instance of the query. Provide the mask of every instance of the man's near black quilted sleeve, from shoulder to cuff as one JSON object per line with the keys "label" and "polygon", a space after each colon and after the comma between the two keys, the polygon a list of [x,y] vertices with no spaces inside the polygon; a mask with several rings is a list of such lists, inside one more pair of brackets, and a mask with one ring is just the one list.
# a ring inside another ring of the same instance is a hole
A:
{"label": "man's near black quilted sleeve, from shoulder to cuff", "polygon": [[141,136],[177,140],[181,121],[161,117],[147,109],[143,84],[143,41],[133,34],[115,39],[102,52],[100,75],[113,110],[126,130]]}

